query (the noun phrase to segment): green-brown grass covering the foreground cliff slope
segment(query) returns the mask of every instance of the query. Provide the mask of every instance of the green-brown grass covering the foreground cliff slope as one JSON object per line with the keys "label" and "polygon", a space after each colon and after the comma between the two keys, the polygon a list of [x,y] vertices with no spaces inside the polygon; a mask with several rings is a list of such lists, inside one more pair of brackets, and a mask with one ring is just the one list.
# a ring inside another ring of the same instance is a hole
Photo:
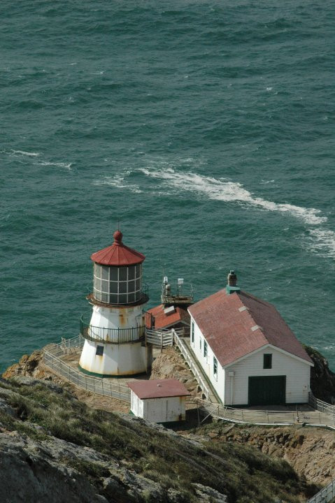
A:
{"label": "green-brown grass covering the foreground cliff slope", "polygon": [[[5,385],[0,384],[0,395],[1,386]],[[2,412],[0,422],[5,428],[20,430],[41,440],[52,435],[117,460],[126,460],[130,469],[166,489],[179,490],[185,503],[198,501],[192,483],[201,483],[228,495],[229,503],[299,501],[301,481],[292,467],[255,448],[187,442],[142,421],[90,409],[62,388],[52,389],[48,384],[27,386],[13,380],[6,387],[17,393],[6,398],[17,418]],[[97,486],[101,476],[106,476],[99,467],[87,467],[83,463],[76,469],[90,476]]]}

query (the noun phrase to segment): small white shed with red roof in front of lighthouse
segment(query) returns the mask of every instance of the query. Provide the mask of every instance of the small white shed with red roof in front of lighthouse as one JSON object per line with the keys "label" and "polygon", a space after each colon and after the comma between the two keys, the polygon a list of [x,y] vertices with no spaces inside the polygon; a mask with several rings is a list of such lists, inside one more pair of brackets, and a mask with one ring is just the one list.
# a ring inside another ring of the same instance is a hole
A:
{"label": "small white shed with red roof in front of lighthouse", "polygon": [[186,397],[190,395],[178,379],[130,381],[130,411],[134,416],[152,423],[171,423],[185,420]]}

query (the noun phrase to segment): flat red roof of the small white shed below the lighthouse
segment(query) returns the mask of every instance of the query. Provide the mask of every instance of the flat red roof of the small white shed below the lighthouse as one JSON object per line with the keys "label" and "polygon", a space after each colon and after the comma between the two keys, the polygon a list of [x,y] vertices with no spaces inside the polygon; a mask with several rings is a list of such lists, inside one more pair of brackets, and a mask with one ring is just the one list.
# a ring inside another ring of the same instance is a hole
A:
{"label": "flat red roof of the small white shed below the lighthouse", "polygon": [[164,398],[188,396],[191,393],[178,379],[152,379],[152,381],[130,381],[127,383],[138,398]]}

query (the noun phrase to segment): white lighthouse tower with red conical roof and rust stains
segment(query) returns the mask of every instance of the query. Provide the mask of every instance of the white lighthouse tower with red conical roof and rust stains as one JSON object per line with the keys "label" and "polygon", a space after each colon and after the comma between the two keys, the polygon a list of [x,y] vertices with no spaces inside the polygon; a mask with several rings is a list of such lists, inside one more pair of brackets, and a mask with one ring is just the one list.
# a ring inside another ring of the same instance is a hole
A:
{"label": "white lighthouse tower with red conical roof and rust stains", "polygon": [[145,256],[122,243],[114,233],[113,245],[97,251],[94,288],[88,299],[90,319],[82,316],[80,333],[85,337],[80,368],[101,377],[141,374],[147,370],[144,306],[148,295],[142,285]]}

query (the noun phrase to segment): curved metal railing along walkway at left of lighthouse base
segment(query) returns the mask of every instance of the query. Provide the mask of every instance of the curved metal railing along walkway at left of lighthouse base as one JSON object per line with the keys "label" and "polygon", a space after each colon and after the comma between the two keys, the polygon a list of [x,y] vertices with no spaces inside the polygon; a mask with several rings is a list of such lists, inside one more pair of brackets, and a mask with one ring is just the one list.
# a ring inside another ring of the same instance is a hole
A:
{"label": "curved metal railing along walkway at left of lighthouse base", "polygon": [[83,347],[84,341],[83,337],[79,335],[78,337],[73,337],[73,339],[63,340],[59,344],[55,344],[55,347],[44,350],[44,365],[49,367],[52,372],[55,372],[55,374],[59,374],[67,381],[70,381],[78,386],[78,388],[91,391],[97,395],[117,398],[117,400],[129,403],[130,389],[127,386],[121,386],[120,384],[115,383],[115,381],[112,382],[106,378],[101,379],[101,377],[87,376],[59,358],[59,356],[64,356],[73,349],[80,351]]}

